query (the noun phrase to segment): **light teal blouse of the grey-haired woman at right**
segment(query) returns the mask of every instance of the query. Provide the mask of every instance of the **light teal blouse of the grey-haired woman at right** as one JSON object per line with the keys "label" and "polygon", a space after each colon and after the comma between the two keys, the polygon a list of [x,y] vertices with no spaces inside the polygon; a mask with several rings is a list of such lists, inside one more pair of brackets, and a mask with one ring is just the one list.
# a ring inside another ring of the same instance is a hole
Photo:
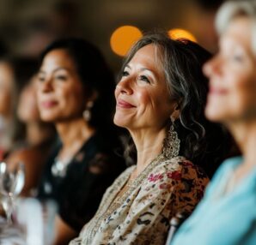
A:
{"label": "light teal blouse of the grey-haired woman at right", "polygon": [[242,158],[229,158],[217,170],[204,199],[169,245],[256,245],[256,167],[227,194],[229,177]]}

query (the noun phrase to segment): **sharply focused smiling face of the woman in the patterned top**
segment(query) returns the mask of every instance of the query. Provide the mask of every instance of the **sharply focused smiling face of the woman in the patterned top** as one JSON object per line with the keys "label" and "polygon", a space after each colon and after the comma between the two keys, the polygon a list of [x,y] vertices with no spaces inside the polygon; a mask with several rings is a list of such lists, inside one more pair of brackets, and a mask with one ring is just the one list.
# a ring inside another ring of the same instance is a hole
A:
{"label": "sharply focused smiling face of the woman in the patterned top", "polygon": [[115,90],[114,123],[128,129],[162,128],[174,111],[155,45],[132,57]]}

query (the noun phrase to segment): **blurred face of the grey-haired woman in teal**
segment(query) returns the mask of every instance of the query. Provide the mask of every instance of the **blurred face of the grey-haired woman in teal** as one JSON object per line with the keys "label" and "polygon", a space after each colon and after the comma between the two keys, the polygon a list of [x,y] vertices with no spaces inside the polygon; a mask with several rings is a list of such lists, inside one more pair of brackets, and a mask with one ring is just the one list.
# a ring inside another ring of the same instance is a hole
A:
{"label": "blurred face of the grey-haired woman in teal", "polygon": [[216,122],[256,118],[256,59],[252,51],[252,24],[240,17],[220,39],[220,51],[204,65],[210,78],[205,114]]}

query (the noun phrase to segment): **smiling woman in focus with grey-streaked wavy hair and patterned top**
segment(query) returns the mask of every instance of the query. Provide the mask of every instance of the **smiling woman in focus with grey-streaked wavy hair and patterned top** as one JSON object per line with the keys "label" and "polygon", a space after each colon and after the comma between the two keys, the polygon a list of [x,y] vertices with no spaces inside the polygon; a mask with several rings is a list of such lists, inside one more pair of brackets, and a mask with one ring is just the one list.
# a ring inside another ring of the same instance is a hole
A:
{"label": "smiling woman in focus with grey-streaked wavy hair and patterned top", "polygon": [[70,244],[161,245],[170,219],[192,212],[208,182],[195,164],[214,162],[207,158],[213,151],[207,131],[211,125],[221,132],[204,118],[201,68],[209,58],[199,45],[164,34],[144,36],[132,47],[115,90],[114,122],[131,133],[137,164],[107,189]]}

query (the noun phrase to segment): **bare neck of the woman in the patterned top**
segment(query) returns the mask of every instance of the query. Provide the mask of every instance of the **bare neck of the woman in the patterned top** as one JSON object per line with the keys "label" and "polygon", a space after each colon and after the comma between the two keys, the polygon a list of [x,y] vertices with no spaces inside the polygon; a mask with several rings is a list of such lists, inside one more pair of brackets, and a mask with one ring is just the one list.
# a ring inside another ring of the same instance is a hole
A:
{"label": "bare neck of the woman in the patterned top", "polygon": [[137,148],[137,169],[134,174],[136,177],[162,152],[166,129],[130,133]]}

